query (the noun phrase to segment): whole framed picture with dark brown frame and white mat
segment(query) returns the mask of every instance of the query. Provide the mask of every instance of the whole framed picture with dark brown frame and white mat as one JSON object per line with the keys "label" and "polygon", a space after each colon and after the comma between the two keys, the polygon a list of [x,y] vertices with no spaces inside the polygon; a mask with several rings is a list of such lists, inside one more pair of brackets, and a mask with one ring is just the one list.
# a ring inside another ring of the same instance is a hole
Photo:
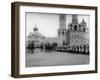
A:
{"label": "whole framed picture with dark brown frame and white mat", "polygon": [[97,7],[12,3],[12,77],[97,73]]}

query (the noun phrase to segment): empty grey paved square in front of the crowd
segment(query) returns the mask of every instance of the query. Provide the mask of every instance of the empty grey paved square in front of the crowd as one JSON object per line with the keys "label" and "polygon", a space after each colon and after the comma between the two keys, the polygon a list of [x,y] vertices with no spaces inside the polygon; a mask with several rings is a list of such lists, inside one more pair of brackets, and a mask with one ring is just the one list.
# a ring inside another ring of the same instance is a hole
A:
{"label": "empty grey paved square in front of the crowd", "polygon": [[26,67],[89,64],[89,55],[66,52],[41,52],[26,54]]}

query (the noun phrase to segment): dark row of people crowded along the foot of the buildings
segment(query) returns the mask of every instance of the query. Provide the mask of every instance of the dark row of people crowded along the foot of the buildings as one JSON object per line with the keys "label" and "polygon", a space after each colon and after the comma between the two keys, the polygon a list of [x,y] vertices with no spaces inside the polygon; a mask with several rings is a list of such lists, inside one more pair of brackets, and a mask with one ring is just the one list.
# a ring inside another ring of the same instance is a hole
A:
{"label": "dark row of people crowded along the foot of the buildings", "polygon": [[69,53],[76,53],[76,54],[89,54],[89,45],[62,45],[58,46],[57,43],[41,43],[36,45],[34,42],[31,42],[26,47],[28,51],[34,53],[35,49],[40,49],[41,51],[45,52],[69,52]]}

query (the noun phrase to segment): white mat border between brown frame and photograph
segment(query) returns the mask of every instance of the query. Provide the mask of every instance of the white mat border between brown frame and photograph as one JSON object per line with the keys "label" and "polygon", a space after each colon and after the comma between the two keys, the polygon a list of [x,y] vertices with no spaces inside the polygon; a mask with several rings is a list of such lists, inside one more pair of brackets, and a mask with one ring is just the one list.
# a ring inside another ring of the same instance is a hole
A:
{"label": "white mat border between brown frame and photograph", "polygon": [[[95,10],[74,9],[74,8],[55,8],[55,7],[36,7],[20,6],[20,43],[19,43],[19,74],[40,74],[55,72],[74,72],[95,70]],[[50,66],[50,67],[25,67],[25,12],[39,13],[60,13],[60,14],[84,14],[90,15],[90,64],[72,66]]]}

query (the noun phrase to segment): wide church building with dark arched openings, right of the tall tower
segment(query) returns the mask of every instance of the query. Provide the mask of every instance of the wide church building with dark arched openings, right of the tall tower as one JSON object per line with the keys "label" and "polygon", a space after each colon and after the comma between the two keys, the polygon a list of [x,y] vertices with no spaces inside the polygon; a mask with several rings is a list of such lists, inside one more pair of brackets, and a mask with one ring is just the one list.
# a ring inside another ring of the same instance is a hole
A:
{"label": "wide church building with dark arched openings, right of the tall tower", "polygon": [[89,45],[89,29],[84,19],[78,22],[77,15],[72,15],[72,23],[68,24],[70,46]]}

